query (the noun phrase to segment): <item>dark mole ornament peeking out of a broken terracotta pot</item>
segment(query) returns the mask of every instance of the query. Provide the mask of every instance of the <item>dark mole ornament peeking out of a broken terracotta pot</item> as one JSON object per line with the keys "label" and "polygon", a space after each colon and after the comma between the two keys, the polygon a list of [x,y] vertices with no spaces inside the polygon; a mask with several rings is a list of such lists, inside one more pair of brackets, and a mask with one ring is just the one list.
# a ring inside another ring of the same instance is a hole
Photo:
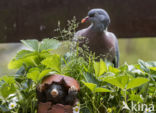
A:
{"label": "dark mole ornament peeking out of a broken terracotta pot", "polygon": [[[37,87],[38,113],[75,113],[79,90],[79,83],[72,77],[58,74],[45,77]],[[79,109],[76,111],[79,113]]]}

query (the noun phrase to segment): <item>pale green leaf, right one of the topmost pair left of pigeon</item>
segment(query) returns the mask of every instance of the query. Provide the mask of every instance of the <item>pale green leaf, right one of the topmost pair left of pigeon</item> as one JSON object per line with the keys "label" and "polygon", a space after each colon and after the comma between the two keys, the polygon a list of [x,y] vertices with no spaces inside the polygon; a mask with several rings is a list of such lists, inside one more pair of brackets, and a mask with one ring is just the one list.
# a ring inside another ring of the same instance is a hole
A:
{"label": "pale green leaf, right one of the topmost pair left of pigeon", "polygon": [[57,49],[61,43],[55,39],[44,39],[40,45],[40,51]]}

